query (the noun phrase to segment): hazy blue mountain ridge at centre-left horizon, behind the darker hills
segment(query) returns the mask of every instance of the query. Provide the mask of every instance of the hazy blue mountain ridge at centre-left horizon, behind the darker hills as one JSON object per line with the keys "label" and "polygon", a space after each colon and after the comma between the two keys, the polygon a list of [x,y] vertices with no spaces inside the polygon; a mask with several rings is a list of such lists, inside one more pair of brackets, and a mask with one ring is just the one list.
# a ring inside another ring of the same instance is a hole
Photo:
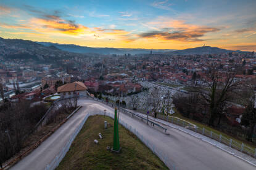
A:
{"label": "hazy blue mountain ridge at centre-left horizon, behind the darker hills", "polygon": [[[57,44],[51,42],[37,42],[38,44],[44,45],[46,47],[54,46],[59,48],[60,50],[64,50],[67,52],[74,52],[74,53],[98,53],[98,54],[117,54],[123,55],[130,53],[131,55],[135,54],[149,54],[151,50],[149,49],[142,49],[142,48],[94,48],[94,47],[86,47],[80,45],[73,45],[73,44]],[[164,52],[171,52],[173,50],[152,50],[152,53],[164,53]]]}

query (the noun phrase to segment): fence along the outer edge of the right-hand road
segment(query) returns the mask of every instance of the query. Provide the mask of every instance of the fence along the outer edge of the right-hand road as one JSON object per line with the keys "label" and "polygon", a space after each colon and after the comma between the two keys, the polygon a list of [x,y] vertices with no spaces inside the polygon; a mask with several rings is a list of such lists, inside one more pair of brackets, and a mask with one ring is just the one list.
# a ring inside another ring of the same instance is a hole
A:
{"label": "fence along the outer edge of the right-hand road", "polygon": [[[93,99],[96,100],[96,101],[104,102],[104,101],[102,101],[100,99],[97,99],[97,98],[93,98]],[[107,102],[104,102],[104,103],[109,105],[109,106],[112,106],[112,107],[117,106],[115,103],[114,104],[113,103],[107,103]],[[121,107],[121,109],[125,110],[122,107]],[[127,112],[127,110],[126,110],[126,112]],[[162,115],[159,115],[159,118],[161,118],[161,117],[162,117]],[[175,118],[175,117],[163,118],[162,117],[161,119],[163,119],[166,122],[170,122],[170,123],[174,123],[174,124],[179,125],[179,126],[187,127],[187,128],[191,129],[192,131],[194,131],[196,133],[200,133],[204,136],[215,139],[216,141],[221,142],[222,144],[228,145],[229,147],[232,147],[233,149],[239,150],[240,152],[246,153],[247,155],[250,155],[250,156],[256,158],[256,148],[254,149],[254,148],[250,147],[247,144],[244,144],[242,142],[234,141],[231,138],[222,136],[221,134],[214,133],[213,131],[209,131],[208,129],[205,129],[205,128],[200,128],[200,127],[197,127],[197,126],[195,127],[191,123],[188,123],[188,122],[186,122],[186,121],[184,121],[180,118]]]}

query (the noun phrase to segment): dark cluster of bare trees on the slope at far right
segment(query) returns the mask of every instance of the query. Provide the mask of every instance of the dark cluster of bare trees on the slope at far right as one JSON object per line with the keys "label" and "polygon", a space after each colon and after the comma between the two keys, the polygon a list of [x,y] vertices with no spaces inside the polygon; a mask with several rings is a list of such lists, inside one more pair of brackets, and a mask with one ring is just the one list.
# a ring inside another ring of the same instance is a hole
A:
{"label": "dark cluster of bare trees on the slope at far right", "polygon": [[246,131],[246,139],[252,142],[256,134],[255,80],[237,79],[236,74],[236,69],[220,69],[212,64],[203,77],[194,73],[189,94],[175,95],[173,103],[184,117],[221,128],[221,124],[225,125],[221,121],[228,114],[228,107],[242,101],[239,104],[246,109],[240,129]]}

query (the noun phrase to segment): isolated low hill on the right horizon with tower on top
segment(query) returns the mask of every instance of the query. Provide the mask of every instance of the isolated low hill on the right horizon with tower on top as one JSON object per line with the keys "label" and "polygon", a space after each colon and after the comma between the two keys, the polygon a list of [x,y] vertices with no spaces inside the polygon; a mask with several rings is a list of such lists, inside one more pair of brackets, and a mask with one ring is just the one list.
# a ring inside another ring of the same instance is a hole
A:
{"label": "isolated low hill on the right horizon with tower on top", "polygon": [[166,52],[165,54],[169,55],[204,55],[204,54],[221,54],[221,53],[230,53],[230,52],[242,52],[242,51],[232,51],[226,50],[218,47],[196,47],[196,48],[188,48],[185,50],[175,50],[173,52]]}

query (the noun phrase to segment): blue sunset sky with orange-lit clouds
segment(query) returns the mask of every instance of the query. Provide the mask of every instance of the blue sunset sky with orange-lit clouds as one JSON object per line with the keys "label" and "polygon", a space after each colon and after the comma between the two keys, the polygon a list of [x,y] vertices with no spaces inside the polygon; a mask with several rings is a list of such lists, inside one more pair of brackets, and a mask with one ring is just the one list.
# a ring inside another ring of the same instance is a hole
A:
{"label": "blue sunset sky with orange-lit clouds", "polygon": [[0,0],[0,37],[88,47],[256,51],[255,0]]}

